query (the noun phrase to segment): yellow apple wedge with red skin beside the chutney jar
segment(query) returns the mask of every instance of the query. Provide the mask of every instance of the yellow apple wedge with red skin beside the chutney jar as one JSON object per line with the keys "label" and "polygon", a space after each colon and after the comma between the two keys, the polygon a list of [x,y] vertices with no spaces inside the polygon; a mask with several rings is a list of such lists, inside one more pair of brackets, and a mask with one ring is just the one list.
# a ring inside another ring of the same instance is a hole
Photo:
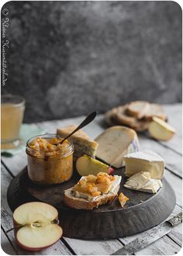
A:
{"label": "yellow apple wedge with red skin beside the chutney jar", "polygon": [[76,161],[76,169],[81,176],[98,175],[98,172],[105,172],[111,175],[114,171],[108,164],[104,164],[88,155],[78,158]]}

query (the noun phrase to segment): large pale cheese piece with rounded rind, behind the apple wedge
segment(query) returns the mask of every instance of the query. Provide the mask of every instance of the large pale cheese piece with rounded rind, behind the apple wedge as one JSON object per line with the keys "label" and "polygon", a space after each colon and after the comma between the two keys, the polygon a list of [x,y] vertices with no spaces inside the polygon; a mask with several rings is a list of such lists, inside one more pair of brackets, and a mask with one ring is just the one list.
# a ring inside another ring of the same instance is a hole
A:
{"label": "large pale cheese piece with rounded rind, behind the apple wedge", "polygon": [[116,168],[123,166],[123,157],[139,150],[136,132],[125,126],[113,126],[96,139],[98,149],[96,157]]}

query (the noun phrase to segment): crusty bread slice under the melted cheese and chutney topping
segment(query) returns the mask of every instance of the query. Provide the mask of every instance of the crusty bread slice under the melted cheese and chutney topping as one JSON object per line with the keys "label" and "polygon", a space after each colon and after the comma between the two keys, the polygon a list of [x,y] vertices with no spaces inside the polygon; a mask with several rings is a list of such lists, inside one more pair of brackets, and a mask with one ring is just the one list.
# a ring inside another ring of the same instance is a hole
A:
{"label": "crusty bread slice under the melted cheese and chutney topping", "polygon": [[64,191],[64,203],[74,209],[94,209],[98,208],[98,206],[105,205],[106,203],[111,204],[114,199],[116,199],[119,186],[116,187],[114,192],[109,192],[104,195],[99,195],[93,201],[89,201],[88,199],[75,197],[72,193],[72,189],[67,189]]}

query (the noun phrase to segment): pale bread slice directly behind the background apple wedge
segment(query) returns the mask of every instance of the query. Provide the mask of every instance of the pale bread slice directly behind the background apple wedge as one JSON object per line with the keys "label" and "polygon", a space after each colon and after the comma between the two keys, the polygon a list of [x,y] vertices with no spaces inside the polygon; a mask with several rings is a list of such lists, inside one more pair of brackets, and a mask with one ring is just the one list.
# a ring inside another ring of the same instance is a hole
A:
{"label": "pale bread slice directly behind the background apple wedge", "polygon": [[150,104],[150,108],[146,112],[143,119],[151,121],[154,116],[163,119],[164,121],[167,119],[167,116],[164,113],[164,109],[160,104]]}

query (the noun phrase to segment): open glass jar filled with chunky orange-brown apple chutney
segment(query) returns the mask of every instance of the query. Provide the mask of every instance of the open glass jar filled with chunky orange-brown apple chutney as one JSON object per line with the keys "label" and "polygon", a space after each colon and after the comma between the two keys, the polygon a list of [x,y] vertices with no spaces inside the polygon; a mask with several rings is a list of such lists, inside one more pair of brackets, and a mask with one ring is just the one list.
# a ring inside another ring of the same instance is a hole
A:
{"label": "open glass jar filled with chunky orange-brown apple chutney", "polygon": [[26,143],[29,178],[41,185],[59,184],[73,174],[74,146],[56,134],[30,138]]}

